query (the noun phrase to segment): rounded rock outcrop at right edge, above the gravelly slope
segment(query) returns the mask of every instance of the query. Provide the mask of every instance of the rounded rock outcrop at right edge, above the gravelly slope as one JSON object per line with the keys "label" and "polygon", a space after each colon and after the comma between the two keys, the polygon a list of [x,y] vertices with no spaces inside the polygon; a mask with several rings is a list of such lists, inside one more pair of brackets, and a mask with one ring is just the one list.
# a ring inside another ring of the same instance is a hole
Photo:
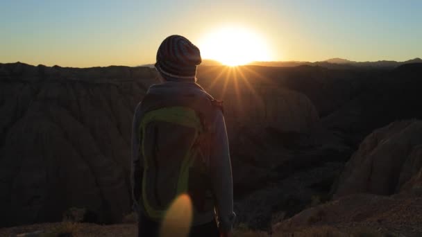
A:
{"label": "rounded rock outcrop at right edge, above the gravelly slope", "polygon": [[335,198],[353,193],[392,195],[420,188],[422,121],[398,121],[361,143],[341,174]]}

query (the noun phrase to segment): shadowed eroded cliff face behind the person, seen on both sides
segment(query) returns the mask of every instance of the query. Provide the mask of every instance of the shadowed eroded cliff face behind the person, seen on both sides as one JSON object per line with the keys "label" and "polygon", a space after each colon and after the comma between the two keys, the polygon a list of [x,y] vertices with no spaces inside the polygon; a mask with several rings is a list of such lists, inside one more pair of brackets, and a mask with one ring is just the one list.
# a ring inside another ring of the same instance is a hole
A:
{"label": "shadowed eroded cliff face behind the person, seen on both sides", "polygon": [[[61,220],[70,207],[105,223],[130,212],[133,110],[154,78],[142,67],[0,64],[1,223]],[[229,137],[242,128],[309,132],[319,120],[299,92],[255,90],[226,87]]]}

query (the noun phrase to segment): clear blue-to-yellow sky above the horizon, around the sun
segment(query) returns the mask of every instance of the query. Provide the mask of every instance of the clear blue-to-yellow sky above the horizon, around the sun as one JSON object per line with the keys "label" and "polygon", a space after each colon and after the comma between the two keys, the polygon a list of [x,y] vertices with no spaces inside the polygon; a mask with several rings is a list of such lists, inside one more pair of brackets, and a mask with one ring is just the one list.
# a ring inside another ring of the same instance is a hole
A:
{"label": "clear blue-to-yellow sky above the horizon, around the sun", "polygon": [[259,37],[271,61],[422,58],[420,0],[0,0],[0,62],[150,64],[169,35],[201,49],[228,26]]}

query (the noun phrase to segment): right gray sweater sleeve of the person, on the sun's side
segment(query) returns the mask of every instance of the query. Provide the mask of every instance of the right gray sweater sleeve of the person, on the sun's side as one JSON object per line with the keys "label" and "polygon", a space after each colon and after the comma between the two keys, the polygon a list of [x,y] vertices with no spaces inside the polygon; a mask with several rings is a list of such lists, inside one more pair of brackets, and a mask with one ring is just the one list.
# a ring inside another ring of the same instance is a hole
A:
{"label": "right gray sweater sleeve of the person, on the sun's side", "polygon": [[210,176],[217,204],[219,229],[230,231],[235,221],[233,212],[233,179],[230,164],[230,152],[226,123],[219,110],[216,118],[216,130],[210,152]]}

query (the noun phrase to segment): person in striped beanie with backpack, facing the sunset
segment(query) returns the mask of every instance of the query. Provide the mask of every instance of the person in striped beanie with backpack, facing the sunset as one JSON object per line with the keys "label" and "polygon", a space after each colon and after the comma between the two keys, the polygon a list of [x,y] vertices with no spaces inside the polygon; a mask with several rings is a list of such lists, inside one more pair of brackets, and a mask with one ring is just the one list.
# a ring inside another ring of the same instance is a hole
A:
{"label": "person in striped beanie with backpack, facing the sunset", "polygon": [[[166,228],[176,236],[185,222],[185,236],[230,236],[233,228],[222,102],[196,83],[199,64],[201,53],[192,42],[180,35],[167,37],[156,56],[160,83],[149,87],[135,109],[131,176],[139,236],[163,236]],[[167,225],[169,209],[183,195],[187,204]]]}

